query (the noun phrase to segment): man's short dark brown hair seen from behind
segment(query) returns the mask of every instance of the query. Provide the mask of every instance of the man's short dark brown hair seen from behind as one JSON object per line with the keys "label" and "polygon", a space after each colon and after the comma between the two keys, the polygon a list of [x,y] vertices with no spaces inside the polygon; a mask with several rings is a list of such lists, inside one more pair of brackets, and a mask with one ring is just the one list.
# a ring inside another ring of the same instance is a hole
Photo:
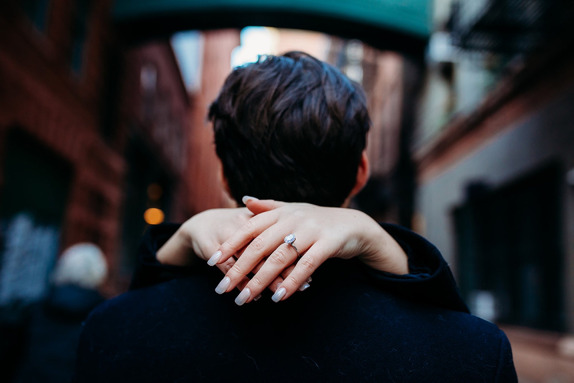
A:
{"label": "man's short dark brown hair seen from behind", "polygon": [[370,127],[366,97],[302,52],[235,68],[212,103],[215,148],[232,197],[341,206]]}

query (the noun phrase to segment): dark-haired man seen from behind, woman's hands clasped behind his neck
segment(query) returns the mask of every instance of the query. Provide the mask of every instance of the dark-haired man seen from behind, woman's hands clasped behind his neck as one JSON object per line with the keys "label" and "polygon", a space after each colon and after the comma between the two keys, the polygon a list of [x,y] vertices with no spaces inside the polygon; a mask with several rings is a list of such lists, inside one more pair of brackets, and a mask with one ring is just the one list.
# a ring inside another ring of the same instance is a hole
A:
{"label": "dark-haired man seen from behind, woman's hands clasped behind his neck", "polygon": [[[231,73],[210,118],[224,184],[238,203],[249,194],[326,207],[246,198],[254,216],[215,210],[181,227],[153,227],[133,291],[88,319],[76,381],[517,380],[506,336],[468,314],[434,246],[328,208],[344,206],[369,174],[370,122],[358,85],[303,53],[270,56]],[[239,230],[215,238],[214,222]],[[236,252],[238,235],[259,239]],[[337,256],[352,259],[327,261]],[[223,280],[198,262],[208,258]],[[313,287],[295,292],[309,287],[305,269]]]}

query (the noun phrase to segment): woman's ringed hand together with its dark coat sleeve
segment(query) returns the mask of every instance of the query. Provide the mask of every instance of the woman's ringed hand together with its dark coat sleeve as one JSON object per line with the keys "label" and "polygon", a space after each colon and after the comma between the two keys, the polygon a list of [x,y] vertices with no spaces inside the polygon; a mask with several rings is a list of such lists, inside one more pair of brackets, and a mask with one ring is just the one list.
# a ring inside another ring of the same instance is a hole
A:
{"label": "woman's ringed hand together with its dark coat sleeve", "polygon": [[[409,241],[414,241],[417,250],[425,250],[422,256],[428,257],[425,260],[430,268],[436,267],[430,274],[417,269],[418,252],[406,254],[404,247],[392,235],[360,211],[256,199],[248,200],[246,205],[255,216],[227,239],[212,257],[218,263],[226,262],[236,249],[246,246],[216,289],[219,293],[230,292],[238,280],[253,272],[254,277],[236,299],[238,304],[251,301],[281,270],[286,270],[288,276],[274,294],[274,301],[288,299],[328,258],[358,257],[373,269],[374,280],[378,280],[379,285],[388,285],[389,278],[395,278],[398,286],[390,290],[398,295],[468,311],[438,250],[412,232],[409,232],[412,234]],[[292,246],[282,243],[287,234],[296,236],[293,245],[301,254],[300,258]],[[421,239],[424,243],[420,242]],[[410,245],[410,242],[407,244]],[[266,257],[268,254],[271,255]],[[262,261],[265,264],[259,270],[253,270],[253,265]],[[408,262],[414,268],[413,274],[409,274]],[[423,279],[426,283],[418,283]],[[410,284],[417,287],[413,290]],[[405,292],[399,291],[401,288]]]}

